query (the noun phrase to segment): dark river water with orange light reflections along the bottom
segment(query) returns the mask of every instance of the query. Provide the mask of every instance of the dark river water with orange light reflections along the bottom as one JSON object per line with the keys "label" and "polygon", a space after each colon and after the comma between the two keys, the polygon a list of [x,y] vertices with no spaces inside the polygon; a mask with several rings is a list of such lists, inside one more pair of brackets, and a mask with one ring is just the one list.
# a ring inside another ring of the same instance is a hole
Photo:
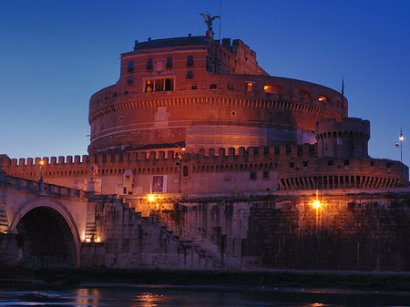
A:
{"label": "dark river water with orange light reflections along the bottom", "polygon": [[410,306],[410,293],[179,286],[0,284],[0,306]]}

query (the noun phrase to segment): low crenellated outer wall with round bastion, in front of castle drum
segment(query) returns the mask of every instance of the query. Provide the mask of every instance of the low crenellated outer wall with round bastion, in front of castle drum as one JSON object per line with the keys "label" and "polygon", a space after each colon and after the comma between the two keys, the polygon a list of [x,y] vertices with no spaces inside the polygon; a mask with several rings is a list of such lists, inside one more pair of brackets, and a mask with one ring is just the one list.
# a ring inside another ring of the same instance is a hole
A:
{"label": "low crenellated outer wall with round bastion, in front of castle drum", "polygon": [[[36,159],[3,159],[2,168],[17,177],[37,179]],[[179,159],[169,150],[112,153],[91,157],[45,158],[44,180],[86,189],[89,169],[98,167],[97,180],[106,194],[152,192],[153,176],[167,176],[164,192],[179,191]],[[398,161],[363,158],[317,158],[317,146],[200,149],[183,153],[181,192],[266,189],[393,188],[408,184],[408,168]],[[127,178],[125,173],[130,175]],[[128,182],[127,182],[128,180]],[[124,188],[127,191],[124,192]]]}

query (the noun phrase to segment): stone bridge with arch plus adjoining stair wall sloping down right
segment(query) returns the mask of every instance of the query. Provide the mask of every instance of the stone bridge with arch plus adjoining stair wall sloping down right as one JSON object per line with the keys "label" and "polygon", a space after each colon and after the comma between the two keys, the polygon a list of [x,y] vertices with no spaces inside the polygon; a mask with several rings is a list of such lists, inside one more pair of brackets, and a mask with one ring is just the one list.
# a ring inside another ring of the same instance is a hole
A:
{"label": "stone bridge with arch plus adjoining stair wall sloping down right", "polygon": [[215,269],[188,240],[117,195],[0,174],[0,265]]}

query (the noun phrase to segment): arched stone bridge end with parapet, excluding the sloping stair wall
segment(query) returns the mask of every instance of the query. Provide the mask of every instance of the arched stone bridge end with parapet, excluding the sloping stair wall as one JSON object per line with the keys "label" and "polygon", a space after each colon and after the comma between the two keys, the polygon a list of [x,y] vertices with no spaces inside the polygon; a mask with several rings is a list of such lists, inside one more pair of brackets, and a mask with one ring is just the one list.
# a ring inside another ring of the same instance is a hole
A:
{"label": "arched stone bridge end with parapet, excluding the sloping stair wall", "polygon": [[0,233],[4,244],[8,241],[6,262],[79,266],[81,244],[87,239],[88,206],[83,191],[0,175]]}

